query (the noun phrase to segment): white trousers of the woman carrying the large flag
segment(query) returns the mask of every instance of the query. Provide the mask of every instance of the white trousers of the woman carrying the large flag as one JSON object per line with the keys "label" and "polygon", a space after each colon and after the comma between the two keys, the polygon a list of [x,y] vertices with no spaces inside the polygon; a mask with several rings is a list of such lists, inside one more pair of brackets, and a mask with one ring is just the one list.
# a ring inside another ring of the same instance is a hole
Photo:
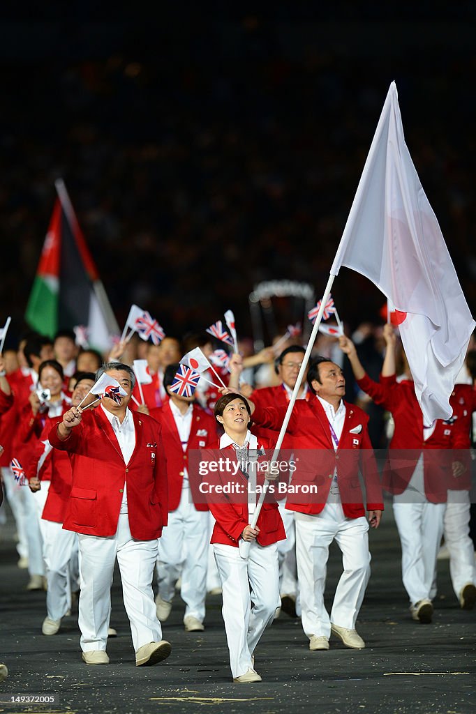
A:
{"label": "white trousers of the woman carrying the large flag", "polygon": [[213,550],[222,583],[230,668],[233,677],[240,677],[252,668],[254,649],[280,604],[277,545],[262,547],[254,541],[247,558],[233,545],[214,543]]}

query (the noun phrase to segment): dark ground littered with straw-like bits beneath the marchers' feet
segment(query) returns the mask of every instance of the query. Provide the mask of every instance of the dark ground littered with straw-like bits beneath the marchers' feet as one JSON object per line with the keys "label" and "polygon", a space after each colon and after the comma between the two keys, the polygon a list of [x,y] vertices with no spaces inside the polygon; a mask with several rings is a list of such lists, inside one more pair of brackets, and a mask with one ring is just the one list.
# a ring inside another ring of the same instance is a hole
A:
{"label": "dark ground littered with straw-like bits beneath the marchers' feet", "polygon": [[[438,563],[439,592],[431,625],[410,618],[400,578],[400,545],[387,506],[371,532],[372,576],[357,629],[365,650],[332,639],[311,653],[300,620],[282,613],[256,651],[262,683],[234,685],[222,625],[221,596],[207,600],[207,629],[185,633],[177,595],[164,625],[172,655],[162,665],[136,668],[119,573],[112,588],[109,665],[81,662],[74,614],[57,635],[41,634],[44,593],[25,590],[28,575],[16,566],[11,516],[0,533],[0,662],[9,677],[0,685],[0,712],[172,712],[274,714],[318,711],[463,714],[476,711],[476,611],[464,612],[452,592],[449,563]],[[327,594],[339,574],[338,550],[329,558]],[[56,693],[54,705],[11,703],[16,694]]]}

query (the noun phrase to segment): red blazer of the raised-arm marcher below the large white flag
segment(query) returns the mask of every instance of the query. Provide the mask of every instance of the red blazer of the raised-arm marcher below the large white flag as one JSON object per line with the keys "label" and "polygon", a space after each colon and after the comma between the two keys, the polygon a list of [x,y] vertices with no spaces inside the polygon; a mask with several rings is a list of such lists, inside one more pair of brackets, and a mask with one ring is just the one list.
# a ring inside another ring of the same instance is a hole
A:
{"label": "red blazer of the raised-arm marcher below the large white flag", "polygon": [[422,410],[412,381],[397,382],[392,375],[381,376],[380,382],[375,382],[366,374],[357,384],[376,404],[390,411],[395,422],[383,473],[385,490],[395,495],[403,493],[423,453],[425,496],[431,503],[445,503],[452,481],[450,450],[455,448],[455,421],[437,420],[435,430],[425,441]]}

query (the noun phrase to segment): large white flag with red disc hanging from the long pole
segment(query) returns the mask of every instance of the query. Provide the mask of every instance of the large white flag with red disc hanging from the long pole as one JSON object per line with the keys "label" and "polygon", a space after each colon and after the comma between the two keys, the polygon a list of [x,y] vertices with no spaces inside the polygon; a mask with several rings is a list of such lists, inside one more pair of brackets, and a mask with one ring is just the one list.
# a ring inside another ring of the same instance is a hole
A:
{"label": "large white flag with red disc hanging from the long pole", "polygon": [[405,144],[397,87],[385,99],[339,243],[340,266],[367,276],[407,313],[399,325],[425,424],[452,415],[449,398],[476,323]]}

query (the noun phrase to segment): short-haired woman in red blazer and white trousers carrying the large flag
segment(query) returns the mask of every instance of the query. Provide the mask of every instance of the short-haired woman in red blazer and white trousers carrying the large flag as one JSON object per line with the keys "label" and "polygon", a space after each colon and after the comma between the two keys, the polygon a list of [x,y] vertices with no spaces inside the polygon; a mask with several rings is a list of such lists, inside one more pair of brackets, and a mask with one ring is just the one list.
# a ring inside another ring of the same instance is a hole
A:
{"label": "short-haired woman in red blazer and white trousers carrying the large flag", "polygon": [[[234,682],[259,682],[253,653],[280,604],[277,541],[286,534],[271,496],[262,506],[256,528],[249,525],[258,498],[253,494],[249,502],[254,474],[259,491],[264,486],[265,462],[272,456],[268,441],[258,442],[249,431],[249,404],[239,394],[228,393],[217,401],[214,415],[224,434],[217,448],[207,453],[209,477],[203,478],[202,490],[208,491],[216,520],[211,542],[222,583],[230,666]],[[203,461],[201,467],[204,470]],[[225,487],[234,493],[220,493]],[[247,557],[240,555],[240,540],[251,544]]]}

